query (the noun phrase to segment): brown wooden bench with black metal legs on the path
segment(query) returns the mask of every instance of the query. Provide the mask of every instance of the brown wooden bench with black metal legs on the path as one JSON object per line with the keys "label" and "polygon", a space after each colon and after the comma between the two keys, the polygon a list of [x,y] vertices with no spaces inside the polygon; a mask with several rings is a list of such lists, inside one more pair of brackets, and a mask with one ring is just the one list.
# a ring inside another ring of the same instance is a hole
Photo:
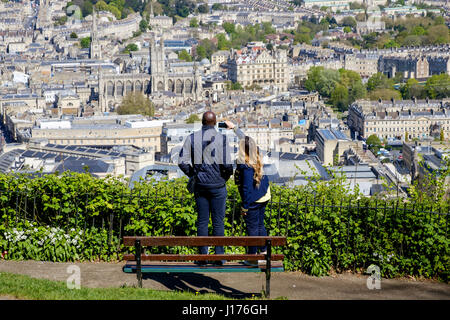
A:
{"label": "brown wooden bench with black metal legs on the path", "polygon": [[[124,237],[126,247],[134,247],[135,254],[124,255],[128,261],[123,267],[124,272],[136,272],[138,285],[142,288],[142,273],[156,272],[265,272],[265,295],[270,297],[271,272],[282,272],[283,254],[272,254],[273,246],[286,245],[286,237]],[[143,254],[143,247],[154,246],[267,246],[267,254]],[[180,261],[220,261],[223,265],[196,265],[194,263],[180,263]],[[231,264],[229,261],[257,261],[265,263],[255,266]],[[143,264],[143,261],[159,263]],[[275,263],[273,263],[275,261]],[[278,262],[278,263],[277,263]]]}

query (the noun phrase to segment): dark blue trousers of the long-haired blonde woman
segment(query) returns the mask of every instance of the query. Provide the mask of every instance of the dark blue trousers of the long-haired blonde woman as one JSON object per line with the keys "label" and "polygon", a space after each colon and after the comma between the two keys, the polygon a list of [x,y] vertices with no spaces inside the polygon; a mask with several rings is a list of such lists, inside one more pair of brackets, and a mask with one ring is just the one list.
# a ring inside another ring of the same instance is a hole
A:
{"label": "dark blue trousers of the long-haired blonde woman", "polygon": [[[267,236],[266,227],[264,226],[264,213],[266,211],[267,202],[252,203],[248,208],[247,214],[244,216],[247,234],[249,236]],[[264,252],[267,250],[263,247],[248,247],[248,254]]]}

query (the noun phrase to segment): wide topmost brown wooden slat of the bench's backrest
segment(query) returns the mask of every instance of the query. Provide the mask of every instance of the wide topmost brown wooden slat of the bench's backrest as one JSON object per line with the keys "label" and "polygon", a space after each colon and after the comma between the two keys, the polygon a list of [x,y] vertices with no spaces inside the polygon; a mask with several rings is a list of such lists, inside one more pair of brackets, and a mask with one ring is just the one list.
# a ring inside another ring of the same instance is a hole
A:
{"label": "wide topmost brown wooden slat of the bench's backrest", "polygon": [[134,246],[135,240],[141,240],[142,246],[264,246],[266,240],[272,240],[272,246],[286,245],[286,237],[123,237],[124,246]]}

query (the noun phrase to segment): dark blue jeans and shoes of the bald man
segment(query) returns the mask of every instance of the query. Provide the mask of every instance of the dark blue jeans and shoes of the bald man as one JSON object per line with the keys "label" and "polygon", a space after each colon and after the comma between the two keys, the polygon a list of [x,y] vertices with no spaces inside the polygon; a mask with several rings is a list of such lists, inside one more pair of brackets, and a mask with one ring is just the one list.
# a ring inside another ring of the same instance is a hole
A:
{"label": "dark blue jeans and shoes of the bald man", "polygon": [[[214,236],[224,235],[225,206],[227,201],[227,188],[195,187],[195,202],[197,204],[197,236],[208,235],[209,214],[213,226]],[[200,254],[208,254],[208,247],[199,247]],[[222,246],[215,247],[216,254],[223,254]]]}

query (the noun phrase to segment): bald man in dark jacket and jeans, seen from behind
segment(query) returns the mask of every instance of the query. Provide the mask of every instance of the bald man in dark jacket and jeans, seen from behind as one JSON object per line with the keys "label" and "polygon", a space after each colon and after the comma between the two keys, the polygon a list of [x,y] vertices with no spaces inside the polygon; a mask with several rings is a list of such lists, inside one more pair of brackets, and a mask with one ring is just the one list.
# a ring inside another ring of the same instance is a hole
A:
{"label": "bald man in dark jacket and jeans, seen from behind", "polygon": [[[225,183],[233,174],[231,154],[226,137],[215,129],[216,115],[207,111],[202,117],[202,128],[190,134],[180,151],[178,166],[194,180],[194,197],[197,205],[197,235],[208,235],[211,214],[213,235],[224,235],[227,188]],[[200,254],[208,254],[208,247],[200,247]],[[222,246],[215,247],[223,254]],[[223,261],[217,261],[223,264]],[[200,264],[202,264],[200,262]],[[203,263],[204,264],[204,263]]]}

